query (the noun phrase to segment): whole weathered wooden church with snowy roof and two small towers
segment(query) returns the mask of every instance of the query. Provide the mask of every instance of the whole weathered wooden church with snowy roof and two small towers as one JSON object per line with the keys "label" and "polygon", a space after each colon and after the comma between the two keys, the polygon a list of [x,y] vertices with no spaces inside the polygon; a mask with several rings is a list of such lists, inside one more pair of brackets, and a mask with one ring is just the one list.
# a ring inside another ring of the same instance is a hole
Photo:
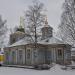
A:
{"label": "whole weathered wooden church with snowy roof and two small towers", "polygon": [[53,28],[47,20],[41,28],[42,35],[37,39],[36,48],[33,36],[25,33],[22,27],[10,35],[10,45],[4,48],[6,65],[71,64],[71,45],[53,36]]}

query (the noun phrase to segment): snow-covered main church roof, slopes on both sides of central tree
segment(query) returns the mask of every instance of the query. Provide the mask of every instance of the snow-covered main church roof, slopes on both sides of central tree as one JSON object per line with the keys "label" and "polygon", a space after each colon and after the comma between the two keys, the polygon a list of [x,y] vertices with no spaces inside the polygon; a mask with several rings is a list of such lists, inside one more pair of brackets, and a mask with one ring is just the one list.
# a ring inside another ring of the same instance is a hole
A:
{"label": "snow-covered main church roof, slopes on both sides of central tree", "polygon": [[[9,47],[13,47],[13,46],[19,46],[19,45],[26,45],[26,44],[30,44],[30,43],[33,43],[33,41],[31,40],[30,37],[24,37],[23,39],[19,40],[18,42],[10,45]],[[55,37],[51,37],[51,38],[48,38],[48,39],[44,39],[44,40],[41,40],[39,39],[38,44],[43,44],[43,45],[49,45],[49,44],[52,44],[52,45],[56,45],[56,44],[67,44]]]}

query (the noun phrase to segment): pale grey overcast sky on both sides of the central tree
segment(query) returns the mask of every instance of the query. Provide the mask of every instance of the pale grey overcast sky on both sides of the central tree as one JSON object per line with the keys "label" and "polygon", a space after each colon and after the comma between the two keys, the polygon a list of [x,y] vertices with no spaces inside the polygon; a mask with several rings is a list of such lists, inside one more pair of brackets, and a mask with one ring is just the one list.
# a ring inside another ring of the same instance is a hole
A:
{"label": "pale grey overcast sky on both sides of the central tree", "polygon": [[[7,20],[7,24],[12,27],[19,25],[20,16],[24,15],[24,11],[33,0],[0,0],[0,14],[3,19]],[[47,8],[47,16],[49,25],[56,30],[60,23],[62,4],[64,0],[39,0],[45,4]]]}

